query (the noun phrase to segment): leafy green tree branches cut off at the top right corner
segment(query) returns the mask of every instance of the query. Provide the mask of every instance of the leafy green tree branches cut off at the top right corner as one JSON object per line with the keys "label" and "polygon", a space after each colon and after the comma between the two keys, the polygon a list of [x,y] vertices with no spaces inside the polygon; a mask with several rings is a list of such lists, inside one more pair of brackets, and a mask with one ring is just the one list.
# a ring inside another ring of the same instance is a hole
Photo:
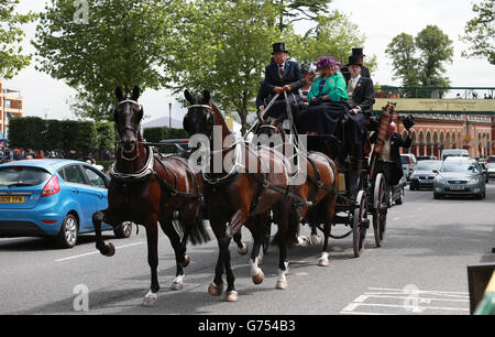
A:
{"label": "leafy green tree branches cut off at the top right corner", "polygon": [[468,21],[465,35],[461,40],[470,44],[470,48],[462,53],[465,57],[486,57],[495,65],[495,2],[482,0],[473,4],[475,18]]}

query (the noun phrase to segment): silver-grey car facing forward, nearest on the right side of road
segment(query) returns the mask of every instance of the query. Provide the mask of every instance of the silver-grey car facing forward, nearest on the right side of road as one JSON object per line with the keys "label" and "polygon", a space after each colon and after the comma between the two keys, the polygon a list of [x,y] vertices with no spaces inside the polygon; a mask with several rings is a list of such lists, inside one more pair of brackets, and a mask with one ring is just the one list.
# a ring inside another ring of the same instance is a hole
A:
{"label": "silver-grey car facing forward, nearest on the right side of road", "polygon": [[471,195],[477,199],[486,196],[485,180],[475,160],[466,157],[449,157],[433,181],[433,197],[439,199],[446,195]]}

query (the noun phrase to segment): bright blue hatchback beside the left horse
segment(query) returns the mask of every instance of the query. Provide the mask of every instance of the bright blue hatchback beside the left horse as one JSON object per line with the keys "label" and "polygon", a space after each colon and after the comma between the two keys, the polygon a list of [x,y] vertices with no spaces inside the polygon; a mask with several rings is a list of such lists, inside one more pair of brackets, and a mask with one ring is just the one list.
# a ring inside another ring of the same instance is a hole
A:
{"label": "bright blue hatchback beside the left horse", "polygon": [[[110,180],[70,160],[28,160],[0,165],[0,237],[54,237],[73,248],[79,233],[94,232],[92,215],[108,207]],[[107,224],[102,230],[112,230]],[[132,224],[114,230],[131,236]]]}

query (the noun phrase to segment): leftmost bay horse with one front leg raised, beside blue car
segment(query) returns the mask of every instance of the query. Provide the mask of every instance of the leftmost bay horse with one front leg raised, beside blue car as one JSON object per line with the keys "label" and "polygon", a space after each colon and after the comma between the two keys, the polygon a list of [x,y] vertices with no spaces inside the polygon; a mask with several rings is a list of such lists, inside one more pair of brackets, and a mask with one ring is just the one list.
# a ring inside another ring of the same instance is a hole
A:
{"label": "leftmost bay horse with one front leg raised, beside blue car", "polygon": [[[140,88],[134,87],[132,95],[122,94],[117,88],[118,99],[114,109],[114,123],[119,137],[116,162],[110,170],[111,181],[108,187],[108,208],[94,215],[96,247],[106,257],[116,252],[113,244],[105,243],[101,237],[101,222],[117,227],[123,221],[140,224],[146,229],[147,261],[151,268],[151,289],[143,306],[155,306],[160,291],[158,267],[158,221],[169,238],[175,251],[177,265],[176,279],[172,290],[182,290],[184,268],[190,258],[186,254],[186,243],[202,243],[209,240],[200,213],[202,182],[194,173],[187,161],[178,156],[161,157],[153,148],[143,144],[141,119],[143,108],[138,102]],[[174,229],[174,213],[179,214],[179,224],[184,232],[180,236]]]}

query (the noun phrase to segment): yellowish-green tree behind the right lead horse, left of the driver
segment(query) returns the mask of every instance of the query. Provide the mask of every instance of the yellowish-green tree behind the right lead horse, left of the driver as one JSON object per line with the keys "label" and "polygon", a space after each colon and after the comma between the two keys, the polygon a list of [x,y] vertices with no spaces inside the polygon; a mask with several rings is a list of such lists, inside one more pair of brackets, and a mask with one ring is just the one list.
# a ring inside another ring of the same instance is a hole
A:
{"label": "yellowish-green tree behind the right lead horse, left of the driver", "polygon": [[189,3],[180,20],[175,20],[178,34],[169,50],[175,91],[212,91],[223,110],[235,110],[244,132],[272,43],[279,39],[274,24],[277,14],[271,1]]}

